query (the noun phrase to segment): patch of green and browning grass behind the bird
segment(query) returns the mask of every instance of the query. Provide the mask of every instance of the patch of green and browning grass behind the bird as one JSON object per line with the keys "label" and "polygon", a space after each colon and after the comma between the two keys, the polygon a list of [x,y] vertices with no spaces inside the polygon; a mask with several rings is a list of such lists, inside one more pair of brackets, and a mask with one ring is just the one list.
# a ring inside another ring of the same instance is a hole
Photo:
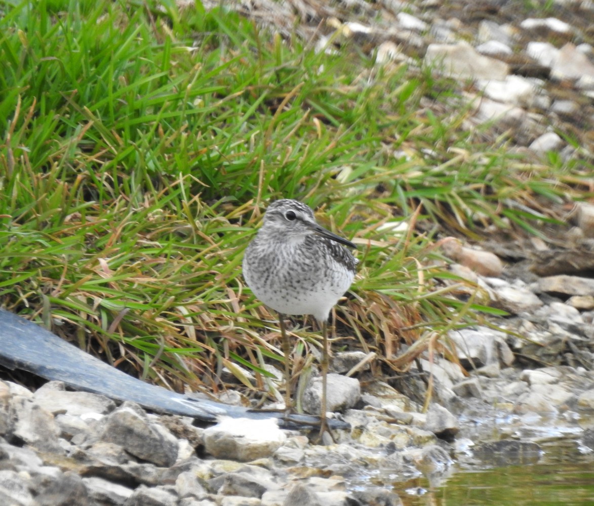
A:
{"label": "patch of green and browning grass behind the bird", "polygon": [[[337,332],[386,358],[497,313],[443,284],[440,227],[539,233],[552,216],[530,202],[584,179],[478,142],[429,70],[315,53],[200,4],[84,5],[0,1],[0,301],[157,383],[216,388],[225,365],[279,359],[241,276],[268,201],[356,238]],[[380,227],[416,209],[429,232]],[[300,329],[300,349],[319,345]]]}

